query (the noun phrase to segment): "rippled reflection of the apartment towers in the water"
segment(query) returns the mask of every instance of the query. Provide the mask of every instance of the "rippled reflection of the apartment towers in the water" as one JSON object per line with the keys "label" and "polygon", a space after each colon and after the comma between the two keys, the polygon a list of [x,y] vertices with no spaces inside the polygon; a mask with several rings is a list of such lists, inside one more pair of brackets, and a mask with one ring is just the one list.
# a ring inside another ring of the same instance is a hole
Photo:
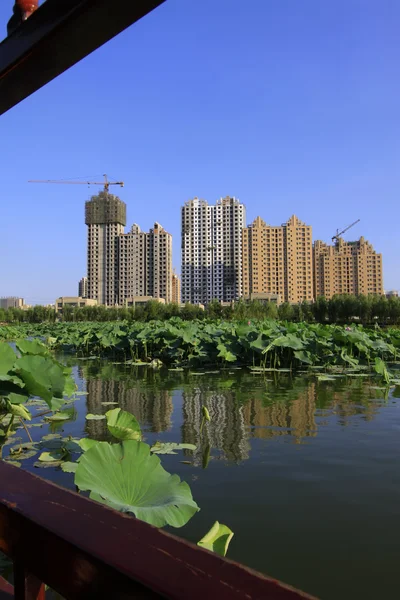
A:
{"label": "rippled reflection of the apartment towers in the water", "polygon": [[[321,384],[315,379],[283,376],[264,381],[241,371],[229,380],[221,375],[199,381],[189,373],[108,369],[81,373],[87,379],[87,412],[104,413],[113,408],[104,403],[118,403],[115,406],[134,414],[145,431],[168,431],[173,412],[170,390],[175,389],[182,398],[182,413],[176,414],[181,440],[174,441],[197,447],[196,464],[205,460],[209,448],[214,458],[237,463],[249,458],[252,438],[290,436],[302,443],[317,435],[318,427],[324,425],[321,418],[334,416],[346,426],[354,415],[372,419],[378,410],[376,401],[370,402],[374,395],[366,394],[369,388],[361,380]],[[211,416],[203,429],[202,406]],[[87,421],[86,430],[96,439],[107,437],[104,420]]]}

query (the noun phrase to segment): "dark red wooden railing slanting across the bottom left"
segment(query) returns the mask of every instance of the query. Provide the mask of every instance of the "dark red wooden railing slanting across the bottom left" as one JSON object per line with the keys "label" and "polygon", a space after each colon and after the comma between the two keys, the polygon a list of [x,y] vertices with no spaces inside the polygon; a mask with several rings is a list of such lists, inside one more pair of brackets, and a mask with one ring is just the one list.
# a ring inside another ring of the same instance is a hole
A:
{"label": "dark red wooden railing slanting across the bottom left", "polygon": [[44,583],[74,600],[311,598],[1,461],[0,550],[0,600],[44,600]]}

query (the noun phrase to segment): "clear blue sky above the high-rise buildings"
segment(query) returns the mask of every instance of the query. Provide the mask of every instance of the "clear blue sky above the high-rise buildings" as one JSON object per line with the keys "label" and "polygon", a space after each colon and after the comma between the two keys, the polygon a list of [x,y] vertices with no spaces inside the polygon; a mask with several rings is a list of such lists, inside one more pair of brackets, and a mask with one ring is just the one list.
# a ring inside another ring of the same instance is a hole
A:
{"label": "clear blue sky above the high-rise buildings", "polygon": [[398,0],[167,0],[1,117],[0,295],[77,293],[96,188],[27,180],[102,173],[178,269],[182,203],[229,194],[314,239],[360,218],[400,288],[399,23]]}

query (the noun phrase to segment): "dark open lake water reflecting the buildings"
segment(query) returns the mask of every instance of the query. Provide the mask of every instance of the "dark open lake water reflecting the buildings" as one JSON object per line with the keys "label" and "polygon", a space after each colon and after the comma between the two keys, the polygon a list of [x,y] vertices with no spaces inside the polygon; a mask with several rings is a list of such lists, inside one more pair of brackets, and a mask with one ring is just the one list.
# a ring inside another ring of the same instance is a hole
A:
{"label": "dark open lake water reflecting the buildings", "polygon": [[[359,373],[318,381],[63,360],[87,395],[72,421],[33,428],[34,439],[107,439],[105,421],[85,415],[118,405],[136,416],[144,441],[197,447],[160,456],[201,508],[173,533],[196,542],[218,520],[235,532],[229,558],[324,600],[398,596],[400,388]],[[203,405],[211,422],[201,431]],[[73,489],[73,475],[38,470],[35,460],[24,468]]]}

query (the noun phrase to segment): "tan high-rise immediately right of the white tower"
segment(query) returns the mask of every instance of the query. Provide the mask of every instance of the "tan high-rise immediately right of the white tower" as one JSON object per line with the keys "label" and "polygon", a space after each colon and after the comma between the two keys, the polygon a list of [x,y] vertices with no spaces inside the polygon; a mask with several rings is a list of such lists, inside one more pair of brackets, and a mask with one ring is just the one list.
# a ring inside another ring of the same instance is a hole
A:
{"label": "tan high-rise immediately right of the white tower", "polygon": [[260,217],[243,229],[243,295],[313,299],[312,228],[293,215],[278,227]]}

